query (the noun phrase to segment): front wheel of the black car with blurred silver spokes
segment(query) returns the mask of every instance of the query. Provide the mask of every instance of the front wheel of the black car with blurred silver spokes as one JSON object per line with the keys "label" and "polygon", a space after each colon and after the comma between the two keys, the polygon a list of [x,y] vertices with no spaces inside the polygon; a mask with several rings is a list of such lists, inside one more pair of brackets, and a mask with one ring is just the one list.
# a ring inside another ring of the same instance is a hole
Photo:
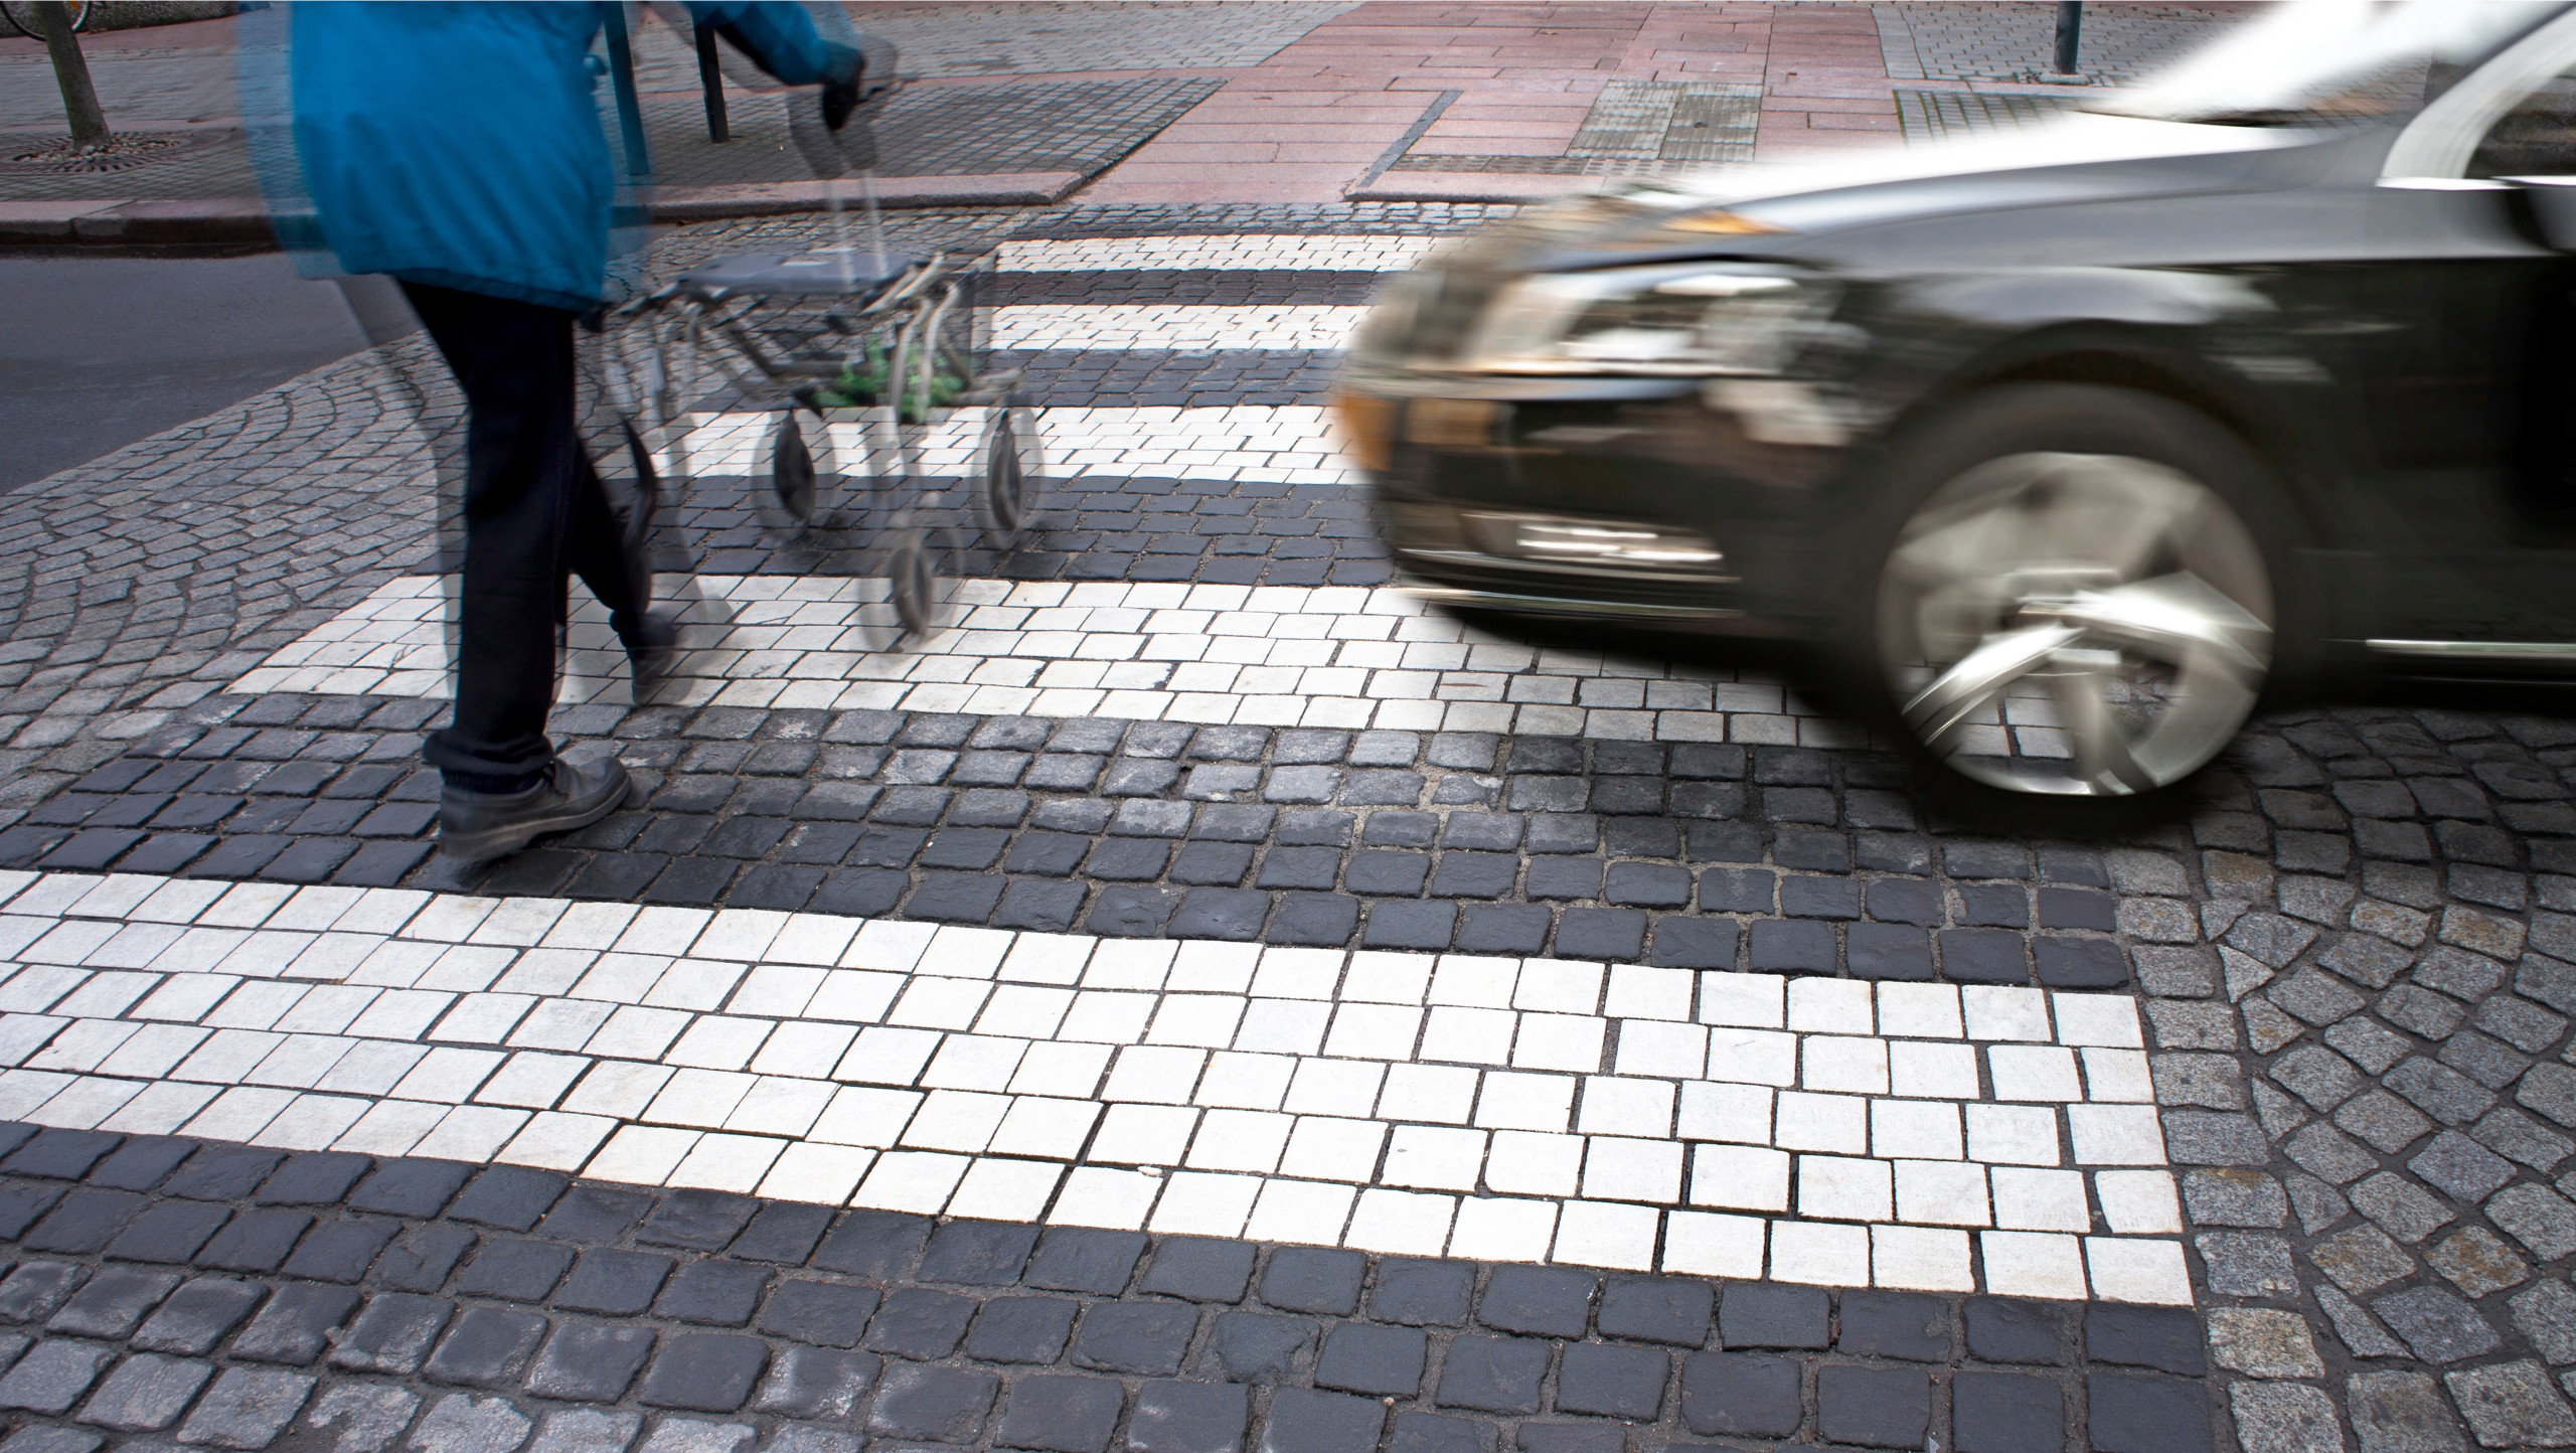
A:
{"label": "front wheel of the black car with blurred silver spokes", "polygon": [[1958,812],[2161,806],[2228,747],[2295,636],[2275,474],[2154,394],[1973,394],[1899,435],[1862,518],[1844,688]]}

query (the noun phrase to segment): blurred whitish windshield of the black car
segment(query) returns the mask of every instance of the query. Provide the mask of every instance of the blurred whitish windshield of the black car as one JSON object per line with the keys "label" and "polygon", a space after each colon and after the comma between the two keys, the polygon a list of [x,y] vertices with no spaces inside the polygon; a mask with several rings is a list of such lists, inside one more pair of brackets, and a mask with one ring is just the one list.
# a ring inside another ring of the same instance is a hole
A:
{"label": "blurred whitish windshield of the black car", "polygon": [[2406,113],[2558,10],[2530,0],[2290,0],[2151,85],[2084,108],[2218,126]]}

